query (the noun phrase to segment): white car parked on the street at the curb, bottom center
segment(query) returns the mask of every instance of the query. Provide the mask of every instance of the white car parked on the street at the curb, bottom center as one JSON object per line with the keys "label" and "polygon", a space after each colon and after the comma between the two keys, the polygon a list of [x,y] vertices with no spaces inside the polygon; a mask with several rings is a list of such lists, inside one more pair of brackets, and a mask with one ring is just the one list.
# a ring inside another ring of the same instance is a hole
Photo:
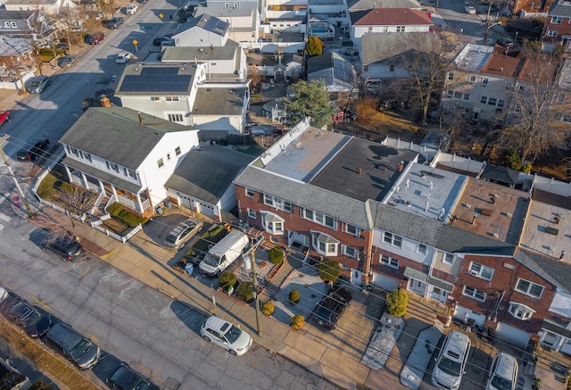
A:
{"label": "white car parked on the street at the curb, bottom center", "polygon": [[219,344],[234,356],[243,355],[252,346],[250,335],[236,325],[216,316],[211,316],[204,321],[200,334],[204,340]]}

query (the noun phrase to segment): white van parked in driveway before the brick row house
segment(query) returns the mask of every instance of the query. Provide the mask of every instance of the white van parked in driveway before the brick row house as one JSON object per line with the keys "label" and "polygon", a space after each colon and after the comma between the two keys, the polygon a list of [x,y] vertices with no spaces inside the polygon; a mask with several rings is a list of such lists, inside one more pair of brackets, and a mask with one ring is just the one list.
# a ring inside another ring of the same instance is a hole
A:
{"label": "white van parked in driveway before the brick row house", "polygon": [[232,230],[228,236],[222,238],[216,245],[208,250],[198,268],[204,275],[217,277],[228,268],[249,244],[248,236],[240,230]]}

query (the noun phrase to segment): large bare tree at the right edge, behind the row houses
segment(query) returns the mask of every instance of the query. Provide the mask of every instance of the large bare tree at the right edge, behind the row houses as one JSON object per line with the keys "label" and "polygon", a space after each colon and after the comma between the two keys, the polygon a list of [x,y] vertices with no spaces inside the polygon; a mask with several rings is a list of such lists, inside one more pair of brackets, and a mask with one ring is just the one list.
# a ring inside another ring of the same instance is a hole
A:
{"label": "large bare tree at the right edge, behind the row houses", "polygon": [[[542,153],[561,145],[565,130],[559,119],[569,112],[569,99],[561,99],[559,81],[566,70],[565,58],[544,53],[539,45],[525,48],[521,72],[512,86],[511,125],[503,129],[501,145],[513,149],[522,162],[534,162]],[[567,69],[567,72],[569,70]]]}

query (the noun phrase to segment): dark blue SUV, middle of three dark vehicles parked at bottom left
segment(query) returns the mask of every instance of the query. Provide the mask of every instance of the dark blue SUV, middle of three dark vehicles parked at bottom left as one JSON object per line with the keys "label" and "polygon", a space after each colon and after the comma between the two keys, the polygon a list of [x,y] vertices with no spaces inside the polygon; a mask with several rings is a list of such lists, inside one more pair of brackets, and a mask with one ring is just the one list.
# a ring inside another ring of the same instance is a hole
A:
{"label": "dark blue SUV, middle of three dark vehicles parked at bottom left", "polygon": [[45,342],[79,369],[91,369],[101,356],[101,349],[97,345],[63,322],[47,331]]}

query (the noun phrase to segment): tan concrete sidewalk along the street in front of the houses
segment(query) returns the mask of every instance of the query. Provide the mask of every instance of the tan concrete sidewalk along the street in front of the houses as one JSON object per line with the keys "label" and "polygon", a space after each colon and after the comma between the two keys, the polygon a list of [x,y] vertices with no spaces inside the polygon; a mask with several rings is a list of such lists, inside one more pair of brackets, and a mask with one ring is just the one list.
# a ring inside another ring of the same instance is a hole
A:
{"label": "tan concrete sidewalk along the street in front of the houses", "polygon": [[[33,213],[44,207],[31,193],[26,183],[21,184]],[[11,195],[12,209],[22,218],[29,214],[15,191]],[[79,236],[86,250],[95,254],[118,270],[137,278],[148,286],[170,296],[173,300],[185,302],[203,313],[216,313],[219,317],[240,323],[252,335],[255,343],[279,353],[291,361],[296,361],[319,377],[327,378],[335,385],[346,389],[357,388],[404,388],[399,379],[385,370],[373,370],[355,360],[349,353],[333,345],[325,345],[315,336],[310,336],[309,325],[299,331],[282,322],[261,316],[262,336],[258,336],[256,314],[251,305],[216,291],[210,286],[174,270],[167,261],[172,253],[160,245],[134,236],[127,244],[122,244],[110,236],[80,224]],[[216,301],[214,306],[213,301]]]}

